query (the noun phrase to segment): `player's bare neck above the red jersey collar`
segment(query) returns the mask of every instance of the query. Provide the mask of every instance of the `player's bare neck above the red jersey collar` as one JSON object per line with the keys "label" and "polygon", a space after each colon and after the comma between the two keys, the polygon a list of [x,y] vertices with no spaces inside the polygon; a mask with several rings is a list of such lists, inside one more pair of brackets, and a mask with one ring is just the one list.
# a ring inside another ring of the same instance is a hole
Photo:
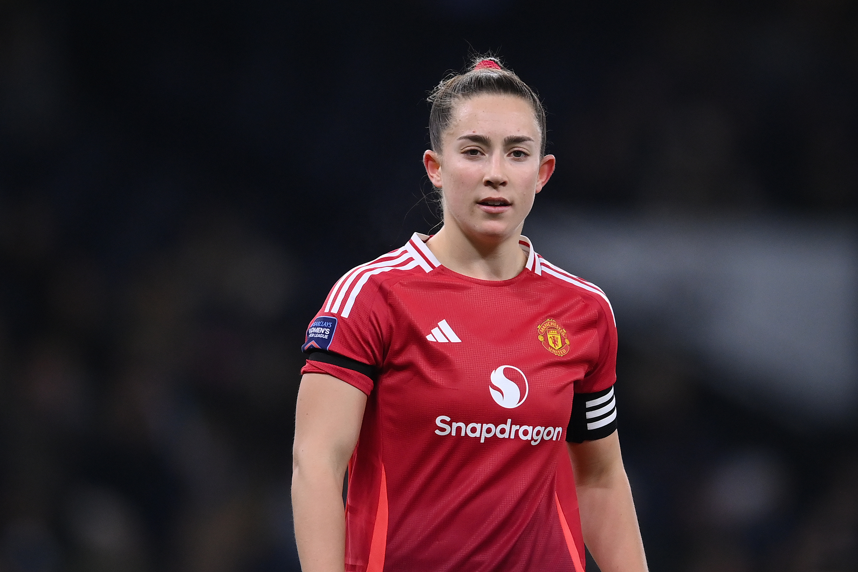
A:
{"label": "player's bare neck above the red jersey collar", "polygon": [[445,224],[426,246],[445,267],[480,280],[510,280],[528,262],[518,245],[521,227],[511,236],[497,240],[468,237],[456,225]]}

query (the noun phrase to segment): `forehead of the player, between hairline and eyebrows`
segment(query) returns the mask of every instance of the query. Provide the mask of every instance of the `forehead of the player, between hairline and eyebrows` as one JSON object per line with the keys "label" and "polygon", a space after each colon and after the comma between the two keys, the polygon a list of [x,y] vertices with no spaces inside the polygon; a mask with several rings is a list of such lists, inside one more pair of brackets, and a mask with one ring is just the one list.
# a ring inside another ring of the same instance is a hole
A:
{"label": "forehead of the player, between hairline and eyebrows", "polygon": [[539,124],[530,104],[515,95],[483,94],[460,99],[453,108],[446,135],[530,135],[538,141]]}

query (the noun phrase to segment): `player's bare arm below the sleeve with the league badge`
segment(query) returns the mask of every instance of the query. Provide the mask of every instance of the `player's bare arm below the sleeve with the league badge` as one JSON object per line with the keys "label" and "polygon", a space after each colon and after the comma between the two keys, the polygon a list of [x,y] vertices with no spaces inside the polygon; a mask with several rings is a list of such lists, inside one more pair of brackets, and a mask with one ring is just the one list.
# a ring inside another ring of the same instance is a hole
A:
{"label": "player's bare arm below the sleeve with the league badge", "polygon": [[301,379],[292,452],[295,539],[304,572],[343,572],[342,479],[360,435],[366,394],[332,376]]}

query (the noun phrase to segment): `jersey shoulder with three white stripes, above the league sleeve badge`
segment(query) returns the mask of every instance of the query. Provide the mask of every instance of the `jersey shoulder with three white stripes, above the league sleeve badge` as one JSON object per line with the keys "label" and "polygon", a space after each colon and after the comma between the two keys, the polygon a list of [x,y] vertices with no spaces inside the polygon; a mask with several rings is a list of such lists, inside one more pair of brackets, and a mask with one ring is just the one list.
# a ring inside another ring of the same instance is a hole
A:
{"label": "jersey shoulder with three white stripes, above the league sleeve badge", "polygon": [[343,274],[325,299],[323,311],[347,318],[355,304],[371,305],[396,281],[414,274],[426,274],[432,268],[432,263],[409,242]]}

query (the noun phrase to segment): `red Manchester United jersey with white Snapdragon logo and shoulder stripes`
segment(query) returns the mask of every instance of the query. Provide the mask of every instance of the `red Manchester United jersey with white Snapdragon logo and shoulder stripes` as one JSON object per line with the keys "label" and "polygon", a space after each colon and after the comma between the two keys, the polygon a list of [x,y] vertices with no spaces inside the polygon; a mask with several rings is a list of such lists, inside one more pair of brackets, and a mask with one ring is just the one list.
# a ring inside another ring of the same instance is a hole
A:
{"label": "red Manchester United jersey with white Snapdragon logo and shoulder stripes", "polygon": [[525,237],[526,267],[498,281],[444,268],[427,239],[345,274],[307,330],[302,373],[368,396],[346,570],[583,572],[565,431],[574,394],[613,406],[611,306]]}

